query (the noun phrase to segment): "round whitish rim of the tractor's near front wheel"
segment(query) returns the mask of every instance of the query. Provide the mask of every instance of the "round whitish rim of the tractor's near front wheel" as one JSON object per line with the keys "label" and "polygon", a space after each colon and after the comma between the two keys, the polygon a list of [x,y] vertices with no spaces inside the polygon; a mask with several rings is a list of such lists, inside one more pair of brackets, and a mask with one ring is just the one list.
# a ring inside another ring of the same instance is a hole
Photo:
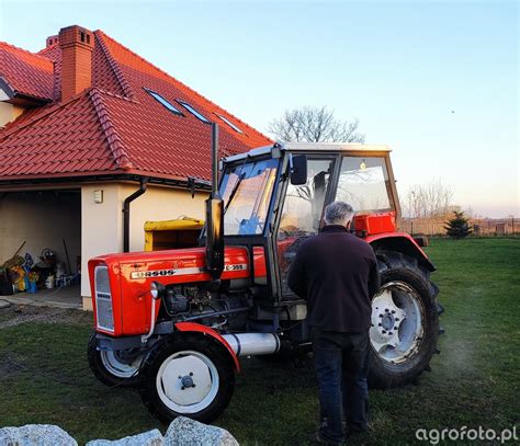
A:
{"label": "round whitish rim of the tractor's near front wheel", "polygon": [[218,370],[206,355],[181,351],[161,364],[156,386],[167,408],[177,413],[194,414],[207,408],[216,398]]}

